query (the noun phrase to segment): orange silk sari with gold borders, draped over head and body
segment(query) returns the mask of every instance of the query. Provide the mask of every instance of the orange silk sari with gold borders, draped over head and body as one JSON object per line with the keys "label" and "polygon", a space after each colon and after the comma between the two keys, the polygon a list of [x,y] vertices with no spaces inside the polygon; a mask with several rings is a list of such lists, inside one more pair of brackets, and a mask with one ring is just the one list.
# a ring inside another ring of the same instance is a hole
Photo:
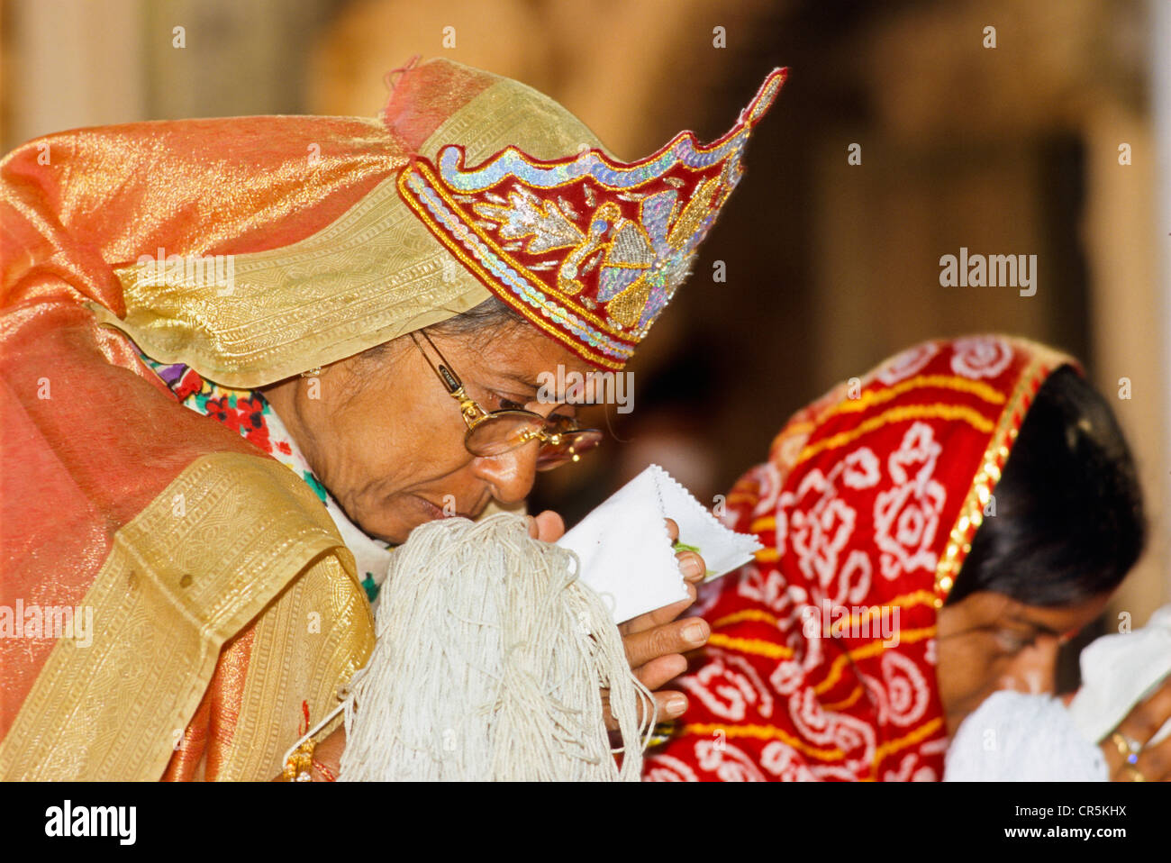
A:
{"label": "orange silk sari with gold borders, draped over head and body", "polygon": [[489,294],[400,169],[582,141],[540,94],[431,61],[381,119],[81,129],[0,162],[0,779],[280,773],[372,648],[352,554],[135,348],[255,389],[464,311]]}

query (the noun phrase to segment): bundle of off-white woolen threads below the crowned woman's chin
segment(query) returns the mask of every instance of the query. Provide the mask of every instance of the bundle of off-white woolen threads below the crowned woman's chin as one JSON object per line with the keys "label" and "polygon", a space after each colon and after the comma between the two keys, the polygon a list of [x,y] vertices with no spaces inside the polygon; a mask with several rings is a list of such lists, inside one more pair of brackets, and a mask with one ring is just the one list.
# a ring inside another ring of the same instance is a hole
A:
{"label": "bundle of off-white woolen threads below the crowned woman's chin", "polygon": [[577,556],[529,537],[523,516],[413,530],[348,687],[340,779],[638,781],[655,700],[577,574]]}

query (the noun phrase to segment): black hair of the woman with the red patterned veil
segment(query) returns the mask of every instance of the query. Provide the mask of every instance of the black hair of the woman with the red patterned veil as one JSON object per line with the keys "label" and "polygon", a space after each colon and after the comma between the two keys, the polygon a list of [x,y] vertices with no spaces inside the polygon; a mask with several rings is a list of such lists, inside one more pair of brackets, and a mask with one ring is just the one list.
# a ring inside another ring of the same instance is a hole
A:
{"label": "black hair of the woman with the red patterned veil", "polygon": [[1073,368],[1038,390],[949,603],[991,590],[1075,605],[1116,588],[1145,542],[1135,461],[1105,399]]}

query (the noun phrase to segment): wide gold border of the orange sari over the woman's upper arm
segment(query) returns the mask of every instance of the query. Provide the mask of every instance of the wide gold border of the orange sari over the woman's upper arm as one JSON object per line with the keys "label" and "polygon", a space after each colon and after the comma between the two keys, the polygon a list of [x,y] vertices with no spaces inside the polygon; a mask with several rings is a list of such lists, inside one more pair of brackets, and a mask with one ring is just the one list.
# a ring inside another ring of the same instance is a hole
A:
{"label": "wide gold border of the orange sari over the woman's upper arm", "polygon": [[258,615],[220,778],[269,779],[301,703],[319,717],[333,707],[374,644],[354,557],[328,513],[260,456],[193,461],[117,530],[84,605],[93,644],[54,645],[0,742],[0,779],[157,780],[221,646]]}

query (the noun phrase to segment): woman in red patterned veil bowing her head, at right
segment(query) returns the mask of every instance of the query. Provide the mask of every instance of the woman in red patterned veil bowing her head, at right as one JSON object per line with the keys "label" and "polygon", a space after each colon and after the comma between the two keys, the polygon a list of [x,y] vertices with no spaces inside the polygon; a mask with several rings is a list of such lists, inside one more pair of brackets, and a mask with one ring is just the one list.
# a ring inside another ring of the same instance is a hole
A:
{"label": "woman in red patterned veil bowing her head, at right", "polygon": [[[727,506],[765,549],[701,595],[712,635],[649,780],[939,780],[993,691],[1052,689],[1144,537],[1105,402],[1070,357],[999,336],[835,388]],[[1171,684],[1118,733],[1142,746],[1167,715]],[[1102,749],[1116,779],[1164,779],[1169,742],[1135,765]]]}

